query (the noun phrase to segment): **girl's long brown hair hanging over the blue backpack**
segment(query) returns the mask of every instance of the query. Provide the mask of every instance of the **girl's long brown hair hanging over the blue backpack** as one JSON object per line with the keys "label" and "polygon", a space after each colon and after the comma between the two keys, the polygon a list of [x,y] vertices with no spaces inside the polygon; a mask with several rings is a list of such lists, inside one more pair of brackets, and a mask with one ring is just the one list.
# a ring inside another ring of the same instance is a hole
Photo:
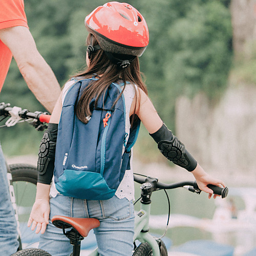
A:
{"label": "girl's long brown hair hanging over the blue backpack", "polygon": [[[87,37],[87,45],[98,45],[96,38],[91,33]],[[131,62],[129,67],[121,69],[110,61],[102,49],[99,49],[91,54],[89,67],[73,75],[73,77],[91,78],[94,74],[101,75],[101,77],[99,77],[98,80],[92,80],[92,83],[82,92],[82,95],[76,104],[76,115],[83,123],[87,123],[87,117],[92,115],[89,107],[91,100],[95,97],[95,104],[97,105],[99,96],[104,93],[106,89],[108,89],[112,82],[116,82],[121,79],[124,82],[124,90],[125,82],[129,81],[132,84],[136,84],[143,92],[147,94],[146,86],[141,77],[138,57]],[[121,97],[121,94],[119,97]],[[137,91],[135,97],[136,112],[136,110],[139,110],[139,105],[137,105]]]}

